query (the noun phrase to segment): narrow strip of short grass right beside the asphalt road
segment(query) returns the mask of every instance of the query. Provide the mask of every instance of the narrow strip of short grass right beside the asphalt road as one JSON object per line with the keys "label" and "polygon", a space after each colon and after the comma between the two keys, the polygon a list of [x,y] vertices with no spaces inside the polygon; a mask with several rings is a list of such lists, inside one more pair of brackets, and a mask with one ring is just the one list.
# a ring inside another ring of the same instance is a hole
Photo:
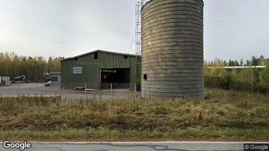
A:
{"label": "narrow strip of short grass right beside the asphalt road", "polygon": [[[0,139],[11,140],[59,140],[59,139],[111,139],[117,140],[127,138],[131,141],[149,140],[178,140],[178,139],[231,139],[231,140],[259,140],[267,141],[269,131],[255,130],[179,130],[173,132],[160,131],[84,131],[84,130],[63,130],[63,131],[1,131]],[[126,140],[126,139],[124,139]]]}

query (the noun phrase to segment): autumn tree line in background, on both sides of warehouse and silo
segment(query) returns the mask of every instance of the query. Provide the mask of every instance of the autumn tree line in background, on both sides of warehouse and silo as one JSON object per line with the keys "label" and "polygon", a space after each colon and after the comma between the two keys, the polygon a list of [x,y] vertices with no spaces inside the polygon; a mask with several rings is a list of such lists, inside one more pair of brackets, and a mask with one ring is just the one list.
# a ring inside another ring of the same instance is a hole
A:
{"label": "autumn tree line in background, on both sides of warehouse and silo", "polygon": [[[22,56],[12,52],[0,52],[0,76],[10,77],[11,80],[20,75],[26,75],[29,80],[44,79],[49,72],[60,71],[60,61],[64,57]],[[225,69],[214,68],[224,66],[257,66],[265,68]],[[252,56],[243,62],[237,60],[221,60],[204,62],[205,86],[211,88],[233,89],[239,91],[252,91],[269,93],[269,58]],[[213,68],[209,68],[213,67]]]}

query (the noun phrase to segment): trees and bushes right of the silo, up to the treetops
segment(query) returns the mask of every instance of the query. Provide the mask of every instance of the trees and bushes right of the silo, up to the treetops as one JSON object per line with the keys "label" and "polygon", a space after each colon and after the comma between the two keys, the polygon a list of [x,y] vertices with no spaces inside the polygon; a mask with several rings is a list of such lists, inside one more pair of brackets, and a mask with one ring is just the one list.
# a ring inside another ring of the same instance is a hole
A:
{"label": "trees and bushes right of the silo, up to the treetops", "polygon": [[[258,66],[265,68],[218,68],[224,66]],[[252,56],[244,63],[236,60],[221,60],[204,62],[205,86],[210,88],[221,88],[227,90],[238,90],[248,92],[269,93],[269,58]],[[213,67],[213,68],[209,68]],[[214,68],[216,67],[216,68]]]}

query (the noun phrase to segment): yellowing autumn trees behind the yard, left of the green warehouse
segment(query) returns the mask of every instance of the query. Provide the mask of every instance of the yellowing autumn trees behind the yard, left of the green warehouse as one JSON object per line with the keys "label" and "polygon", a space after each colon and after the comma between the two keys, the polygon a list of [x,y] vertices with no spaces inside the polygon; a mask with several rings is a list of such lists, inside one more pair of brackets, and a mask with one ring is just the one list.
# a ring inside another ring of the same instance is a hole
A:
{"label": "yellowing autumn trees behind the yard, left of the green warehouse", "polygon": [[44,79],[51,71],[60,71],[60,61],[64,57],[49,57],[48,60],[41,56],[22,56],[12,52],[0,52],[0,76],[15,77],[26,75],[29,80]]}

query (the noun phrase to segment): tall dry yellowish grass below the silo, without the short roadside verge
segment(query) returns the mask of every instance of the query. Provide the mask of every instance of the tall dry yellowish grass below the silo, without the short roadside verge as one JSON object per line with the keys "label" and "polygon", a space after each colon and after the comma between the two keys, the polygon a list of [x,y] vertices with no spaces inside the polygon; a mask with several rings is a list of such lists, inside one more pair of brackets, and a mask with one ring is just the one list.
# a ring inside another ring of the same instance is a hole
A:
{"label": "tall dry yellowish grass below the silo, without the short roadside verge", "polygon": [[0,100],[0,130],[268,129],[269,97],[207,89],[205,99]]}

